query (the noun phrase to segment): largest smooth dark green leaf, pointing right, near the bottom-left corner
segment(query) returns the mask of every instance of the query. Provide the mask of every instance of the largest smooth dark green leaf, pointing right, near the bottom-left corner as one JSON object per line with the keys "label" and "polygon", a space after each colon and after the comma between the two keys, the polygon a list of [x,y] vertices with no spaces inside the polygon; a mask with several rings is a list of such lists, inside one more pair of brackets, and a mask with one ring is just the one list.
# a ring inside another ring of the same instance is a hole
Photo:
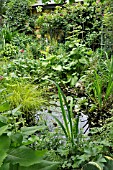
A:
{"label": "largest smooth dark green leaf, pointing right, near the bottom-left corner", "polygon": [[45,150],[35,151],[26,146],[20,146],[18,148],[11,149],[8,152],[8,156],[5,161],[6,163],[19,164],[20,166],[28,167],[39,163],[45,153]]}

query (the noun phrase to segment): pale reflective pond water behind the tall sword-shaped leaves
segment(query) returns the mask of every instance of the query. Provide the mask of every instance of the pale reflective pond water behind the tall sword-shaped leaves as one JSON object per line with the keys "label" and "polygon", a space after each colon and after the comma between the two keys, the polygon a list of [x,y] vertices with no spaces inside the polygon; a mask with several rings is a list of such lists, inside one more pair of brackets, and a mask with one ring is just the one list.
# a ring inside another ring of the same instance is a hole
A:
{"label": "pale reflective pond water behind the tall sword-shaped leaves", "polygon": [[[63,123],[60,103],[58,100],[52,100],[50,102],[50,106],[48,106],[47,108],[42,107],[41,110],[37,111],[36,120],[38,121],[41,117],[43,120],[46,121],[46,124],[49,127],[50,131],[53,131],[55,124],[57,125],[57,123],[52,115],[56,116]],[[84,115],[83,113],[81,113],[81,115],[79,116],[79,130],[80,129],[83,130],[84,134],[87,134],[89,132],[88,116]]]}

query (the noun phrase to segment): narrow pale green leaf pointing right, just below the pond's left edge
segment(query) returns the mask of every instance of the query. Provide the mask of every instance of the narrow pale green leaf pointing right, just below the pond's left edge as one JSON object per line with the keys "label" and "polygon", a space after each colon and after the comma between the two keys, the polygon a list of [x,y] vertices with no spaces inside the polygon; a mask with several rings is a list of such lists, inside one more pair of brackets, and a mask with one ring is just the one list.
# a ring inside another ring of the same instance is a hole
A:
{"label": "narrow pale green leaf pointing right, just below the pond's left edge", "polygon": [[46,129],[46,126],[33,126],[33,127],[22,127],[21,128],[21,132],[24,135],[32,135],[34,134],[36,131],[42,131],[44,129]]}

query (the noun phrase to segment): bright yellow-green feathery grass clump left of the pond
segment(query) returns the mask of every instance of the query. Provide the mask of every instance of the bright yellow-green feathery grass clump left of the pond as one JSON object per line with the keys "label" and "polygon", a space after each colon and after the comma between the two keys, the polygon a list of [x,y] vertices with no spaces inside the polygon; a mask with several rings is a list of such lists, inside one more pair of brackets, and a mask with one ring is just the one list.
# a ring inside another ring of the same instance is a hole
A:
{"label": "bright yellow-green feathery grass clump left of the pond", "polygon": [[25,79],[18,80],[14,78],[12,80],[3,80],[1,88],[6,88],[5,93],[11,94],[7,96],[7,100],[12,109],[22,104],[20,110],[23,112],[26,125],[35,124],[34,115],[36,111],[47,103],[46,89],[33,85]]}

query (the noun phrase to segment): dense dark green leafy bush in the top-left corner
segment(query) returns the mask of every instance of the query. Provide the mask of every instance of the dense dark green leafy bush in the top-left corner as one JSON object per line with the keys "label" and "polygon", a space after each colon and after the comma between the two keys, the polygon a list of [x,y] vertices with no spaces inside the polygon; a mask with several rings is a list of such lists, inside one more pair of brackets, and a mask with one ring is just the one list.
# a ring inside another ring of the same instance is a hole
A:
{"label": "dense dark green leafy bush in the top-left corner", "polygon": [[[33,3],[33,1],[32,1]],[[13,31],[32,32],[34,28],[33,17],[31,16],[31,1],[17,0],[9,1],[6,7],[5,23],[9,24]]]}

